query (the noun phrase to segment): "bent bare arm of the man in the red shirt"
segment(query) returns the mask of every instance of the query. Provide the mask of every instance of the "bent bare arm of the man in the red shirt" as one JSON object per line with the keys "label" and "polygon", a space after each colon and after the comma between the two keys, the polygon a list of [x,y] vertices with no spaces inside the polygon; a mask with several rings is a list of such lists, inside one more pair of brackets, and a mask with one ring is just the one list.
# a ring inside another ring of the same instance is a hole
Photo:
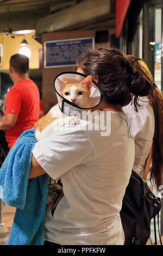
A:
{"label": "bent bare arm of the man in the red shirt", "polygon": [[6,114],[0,123],[0,130],[6,131],[11,129],[16,124],[17,115],[18,114]]}

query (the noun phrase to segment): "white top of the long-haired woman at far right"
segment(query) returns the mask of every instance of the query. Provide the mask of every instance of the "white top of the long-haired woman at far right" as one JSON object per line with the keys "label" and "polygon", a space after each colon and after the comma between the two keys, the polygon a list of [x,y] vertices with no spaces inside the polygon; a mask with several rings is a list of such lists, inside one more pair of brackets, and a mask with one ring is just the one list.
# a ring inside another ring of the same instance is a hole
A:
{"label": "white top of the long-haired woman at far right", "polygon": [[147,96],[139,98],[138,112],[133,104],[123,107],[130,124],[130,131],[135,139],[135,161],[133,169],[141,177],[145,170],[146,160],[152,148],[154,136],[154,112]]}

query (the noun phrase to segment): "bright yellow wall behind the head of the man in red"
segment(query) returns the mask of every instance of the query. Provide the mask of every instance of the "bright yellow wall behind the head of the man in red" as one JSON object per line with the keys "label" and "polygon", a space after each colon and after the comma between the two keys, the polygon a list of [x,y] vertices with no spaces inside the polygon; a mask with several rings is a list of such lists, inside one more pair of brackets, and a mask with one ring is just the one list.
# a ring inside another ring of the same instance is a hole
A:
{"label": "bright yellow wall behind the head of the man in red", "polygon": [[[38,69],[39,68],[39,49],[42,48],[42,45],[34,40],[32,36],[34,33],[26,34],[25,39],[28,42],[28,47],[32,53],[32,56],[29,58],[29,68]],[[0,66],[0,71],[8,70],[10,57],[18,53],[18,50],[21,48],[21,41],[24,39],[23,35],[17,35],[15,38],[11,38],[5,34],[0,34],[0,44],[3,45],[3,58],[2,66]]]}

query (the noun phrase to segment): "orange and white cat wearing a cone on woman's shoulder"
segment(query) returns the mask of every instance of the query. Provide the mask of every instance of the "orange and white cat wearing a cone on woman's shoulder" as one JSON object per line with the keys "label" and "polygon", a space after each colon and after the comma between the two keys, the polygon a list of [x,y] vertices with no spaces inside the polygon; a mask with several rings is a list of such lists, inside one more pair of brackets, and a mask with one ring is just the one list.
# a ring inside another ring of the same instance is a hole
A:
{"label": "orange and white cat wearing a cone on woman's shoulder", "polygon": [[[73,79],[71,78],[67,78],[67,81],[66,79],[61,81],[59,78],[57,78],[57,80],[60,87],[59,93],[66,100],[73,102],[79,107],[82,107],[89,100],[92,86],[91,75],[85,77],[80,83],[72,82]],[[74,115],[71,117],[66,116],[63,119],[63,114],[57,104],[52,107],[44,117],[40,118],[37,123],[35,123],[35,138],[37,141],[40,141],[40,139],[51,135],[59,126],[65,124],[74,125],[77,123],[77,118]]]}

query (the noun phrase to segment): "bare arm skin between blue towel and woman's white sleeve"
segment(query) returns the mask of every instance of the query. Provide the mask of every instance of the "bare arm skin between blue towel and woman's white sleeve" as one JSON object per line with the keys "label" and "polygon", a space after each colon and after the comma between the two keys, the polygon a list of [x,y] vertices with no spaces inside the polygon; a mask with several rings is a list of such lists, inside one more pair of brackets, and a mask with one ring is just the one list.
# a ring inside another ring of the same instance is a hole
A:
{"label": "bare arm skin between blue towel and woman's white sleeve", "polygon": [[35,159],[34,155],[32,155],[32,161],[30,165],[29,179],[36,178],[45,174],[45,170],[42,169],[40,164]]}

